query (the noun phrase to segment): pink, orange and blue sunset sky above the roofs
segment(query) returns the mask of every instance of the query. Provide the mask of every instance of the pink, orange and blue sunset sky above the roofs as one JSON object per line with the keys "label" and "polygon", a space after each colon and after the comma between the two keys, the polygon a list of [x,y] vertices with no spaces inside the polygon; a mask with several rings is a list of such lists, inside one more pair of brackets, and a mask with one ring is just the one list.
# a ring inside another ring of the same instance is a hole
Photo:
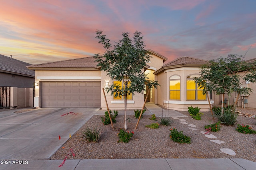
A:
{"label": "pink, orange and blue sunset sky above the roofs", "polygon": [[0,54],[26,63],[102,54],[97,29],[112,44],[140,31],[168,62],[256,58],[256,0],[1,0]]}

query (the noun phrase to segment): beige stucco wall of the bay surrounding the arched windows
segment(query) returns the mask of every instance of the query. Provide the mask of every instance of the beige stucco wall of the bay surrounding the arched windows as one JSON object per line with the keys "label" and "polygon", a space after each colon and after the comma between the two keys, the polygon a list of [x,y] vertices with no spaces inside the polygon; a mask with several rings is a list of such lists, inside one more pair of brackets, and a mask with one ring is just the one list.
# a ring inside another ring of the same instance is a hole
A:
{"label": "beige stucco wall of the bay surrounding the arched windows", "polygon": [[[199,68],[197,67],[180,67],[164,70],[163,72],[158,73],[158,81],[161,84],[158,89],[158,104],[163,105],[166,108],[187,111],[188,106],[199,107],[200,111],[209,111],[209,104],[207,100],[200,101],[191,101],[186,100],[186,77],[191,74],[198,74]],[[181,100],[169,100],[169,78],[173,75],[180,76],[181,84]],[[213,104],[214,101],[211,101]]]}

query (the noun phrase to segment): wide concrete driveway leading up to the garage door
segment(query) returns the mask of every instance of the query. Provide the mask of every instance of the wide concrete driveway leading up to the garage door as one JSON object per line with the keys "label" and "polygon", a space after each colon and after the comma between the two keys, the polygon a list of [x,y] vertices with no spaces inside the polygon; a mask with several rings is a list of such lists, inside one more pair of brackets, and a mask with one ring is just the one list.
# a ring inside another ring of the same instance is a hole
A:
{"label": "wide concrete driveway leading up to the garage door", "polygon": [[[0,160],[48,159],[99,108],[40,108],[0,112]],[[65,113],[74,112],[75,115]],[[59,135],[61,139],[59,140]]]}

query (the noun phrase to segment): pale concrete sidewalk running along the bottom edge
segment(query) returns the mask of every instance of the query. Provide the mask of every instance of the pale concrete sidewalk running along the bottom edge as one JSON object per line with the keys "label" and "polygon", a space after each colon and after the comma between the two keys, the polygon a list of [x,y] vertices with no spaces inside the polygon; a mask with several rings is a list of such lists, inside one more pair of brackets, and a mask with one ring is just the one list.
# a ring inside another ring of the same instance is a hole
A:
{"label": "pale concrete sidewalk running along the bottom edge", "polygon": [[[255,170],[245,159],[90,159],[27,160],[24,164],[0,164],[0,170]],[[22,163],[22,162],[20,162]],[[27,164],[26,164],[27,163]]]}

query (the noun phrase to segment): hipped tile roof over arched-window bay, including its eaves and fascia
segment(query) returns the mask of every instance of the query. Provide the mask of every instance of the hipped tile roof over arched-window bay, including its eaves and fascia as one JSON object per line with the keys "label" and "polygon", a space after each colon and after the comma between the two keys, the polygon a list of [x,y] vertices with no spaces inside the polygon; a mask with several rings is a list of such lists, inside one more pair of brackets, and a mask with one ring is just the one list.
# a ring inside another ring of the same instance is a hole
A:
{"label": "hipped tile roof over arched-window bay, including its eaves and fascia", "polygon": [[197,59],[193,57],[180,57],[175,59],[169,63],[164,64],[160,69],[156,70],[154,74],[158,74],[159,72],[170,69],[170,68],[179,68],[179,67],[201,67],[203,64],[208,64],[207,60]]}

